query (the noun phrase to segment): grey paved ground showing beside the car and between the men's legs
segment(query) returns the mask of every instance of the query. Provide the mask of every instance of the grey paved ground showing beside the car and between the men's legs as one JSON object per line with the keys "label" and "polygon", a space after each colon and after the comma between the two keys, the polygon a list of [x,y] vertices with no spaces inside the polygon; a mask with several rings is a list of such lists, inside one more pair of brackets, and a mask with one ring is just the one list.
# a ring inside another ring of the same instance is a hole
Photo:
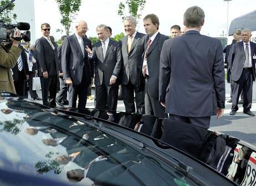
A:
{"label": "grey paved ground showing beside the car and between the men's legs", "polygon": [[[38,95],[42,97],[40,91],[38,91]],[[239,110],[235,116],[230,116],[229,112],[231,111],[232,104],[227,102],[229,99],[230,84],[226,82],[226,110],[224,111],[224,116],[220,120],[217,120],[216,116],[212,116],[210,129],[238,137],[256,147],[256,117],[245,115],[242,105],[239,105]],[[42,101],[37,102],[42,104]],[[94,101],[87,100],[86,107],[94,108]],[[122,100],[118,101],[117,111],[125,111],[124,102]],[[253,104],[251,111],[256,114],[256,85],[253,87]]]}

